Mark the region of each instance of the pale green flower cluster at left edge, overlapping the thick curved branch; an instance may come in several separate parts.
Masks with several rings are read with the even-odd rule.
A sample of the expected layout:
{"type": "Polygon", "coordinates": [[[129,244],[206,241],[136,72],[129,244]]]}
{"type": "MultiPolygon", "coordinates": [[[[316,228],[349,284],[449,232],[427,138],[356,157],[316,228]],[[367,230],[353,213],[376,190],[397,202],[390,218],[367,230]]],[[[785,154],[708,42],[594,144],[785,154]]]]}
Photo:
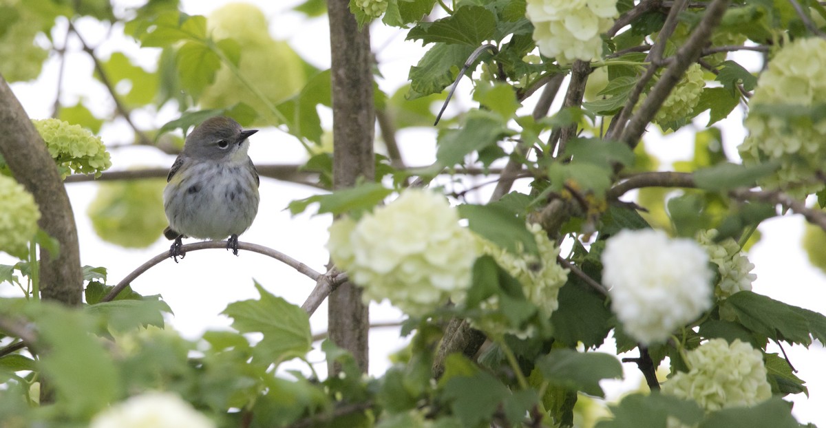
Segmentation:
{"type": "Polygon", "coordinates": [[[38,220],[40,210],[35,197],[14,178],[0,175],[0,251],[25,257],[38,220]]]}

